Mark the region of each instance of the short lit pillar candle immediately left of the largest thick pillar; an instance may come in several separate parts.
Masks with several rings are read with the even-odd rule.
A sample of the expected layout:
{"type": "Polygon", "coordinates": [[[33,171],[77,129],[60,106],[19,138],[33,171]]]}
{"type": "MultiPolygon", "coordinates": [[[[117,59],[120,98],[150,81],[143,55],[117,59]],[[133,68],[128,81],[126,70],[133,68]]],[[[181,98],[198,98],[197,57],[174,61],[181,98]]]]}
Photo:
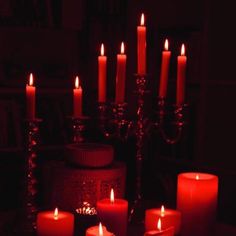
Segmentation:
{"type": "Polygon", "coordinates": [[[181,225],[181,213],[178,210],[161,208],[153,208],[145,211],[145,229],[146,231],[156,229],[156,222],[161,218],[162,227],[174,227],[175,234],[179,234],[181,225]]]}

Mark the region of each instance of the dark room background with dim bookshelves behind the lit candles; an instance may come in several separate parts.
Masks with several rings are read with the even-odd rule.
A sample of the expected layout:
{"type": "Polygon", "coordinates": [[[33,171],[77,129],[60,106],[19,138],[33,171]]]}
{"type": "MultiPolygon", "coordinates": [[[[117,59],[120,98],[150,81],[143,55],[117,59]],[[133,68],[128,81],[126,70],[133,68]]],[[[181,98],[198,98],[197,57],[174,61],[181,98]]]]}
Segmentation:
{"type": "MultiPolygon", "coordinates": [[[[135,118],[136,26],[140,13],[144,12],[150,78],[150,94],[145,103],[147,114],[152,116],[156,106],[161,51],[166,37],[172,51],[168,102],[175,102],[176,58],[184,42],[189,104],[188,126],[178,145],[166,145],[157,133],[147,139],[145,165],[149,175],[145,178],[145,196],[174,206],[177,173],[187,170],[215,173],[220,178],[218,218],[236,225],[235,13],[232,4],[211,0],[0,0],[2,211],[18,206],[15,180],[19,160],[12,153],[19,153],[24,147],[25,84],[29,72],[36,78],[37,115],[43,119],[42,147],[62,146],[70,142],[67,117],[72,112],[74,76],[79,74],[82,80],[84,113],[93,117],[100,43],[104,42],[106,47],[107,92],[109,101],[113,101],[116,54],[123,40],[128,57],[128,117],[135,118]]],[[[92,132],[88,133],[88,139],[101,141],[92,132]]],[[[112,144],[117,158],[127,161],[132,173],[132,161],[128,159],[134,154],[132,148],[119,152],[119,149],[127,150],[128,145],[112,144]]],[[[132,183],[132,177],[127,183],[132,183]]],[[[129,190],[127,195],[130,197],[129,190]]]]}

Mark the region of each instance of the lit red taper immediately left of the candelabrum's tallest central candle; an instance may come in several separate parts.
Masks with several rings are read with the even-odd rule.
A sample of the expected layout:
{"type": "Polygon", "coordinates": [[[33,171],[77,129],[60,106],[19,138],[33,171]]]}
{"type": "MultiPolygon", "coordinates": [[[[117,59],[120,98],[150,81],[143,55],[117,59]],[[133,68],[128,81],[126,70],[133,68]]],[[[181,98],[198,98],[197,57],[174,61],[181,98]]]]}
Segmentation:
{"type": "Polygon", "coordinates": [[[124,43],[121,43],[120,54],[117,55],[116,70],[116,103],[123,103],[125,100],[125,77],[126,77],[126,55],[124,43]]]}

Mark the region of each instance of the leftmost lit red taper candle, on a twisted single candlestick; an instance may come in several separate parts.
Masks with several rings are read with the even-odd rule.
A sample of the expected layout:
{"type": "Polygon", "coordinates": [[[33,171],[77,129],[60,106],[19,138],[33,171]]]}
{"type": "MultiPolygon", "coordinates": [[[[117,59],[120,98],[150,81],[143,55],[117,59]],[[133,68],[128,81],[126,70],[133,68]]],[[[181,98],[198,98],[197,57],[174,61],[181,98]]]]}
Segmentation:
{"type": "Polygon", "coordinates": [[[35,86],[33,74],[30,73],[29,83],[26,84],[26,117],[27,119],[35,118],[35,86]]]}

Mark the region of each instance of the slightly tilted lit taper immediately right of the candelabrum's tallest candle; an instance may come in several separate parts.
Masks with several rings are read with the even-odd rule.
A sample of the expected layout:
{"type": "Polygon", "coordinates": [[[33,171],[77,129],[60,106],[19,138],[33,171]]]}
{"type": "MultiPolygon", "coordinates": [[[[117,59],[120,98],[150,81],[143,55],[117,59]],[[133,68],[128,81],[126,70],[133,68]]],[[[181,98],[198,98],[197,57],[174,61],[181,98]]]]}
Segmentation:
{"type": "Polygon", "coordinates": [[[161,60],[161,75],[160,75],[160,87],[159,87],[159,97],[165,98],[167,91],[168,75],[169,75],[169,65],[171,52],[169,49],[169,42],[166,39],[164,45],[164,51],[162,52],[161,60]]]}

